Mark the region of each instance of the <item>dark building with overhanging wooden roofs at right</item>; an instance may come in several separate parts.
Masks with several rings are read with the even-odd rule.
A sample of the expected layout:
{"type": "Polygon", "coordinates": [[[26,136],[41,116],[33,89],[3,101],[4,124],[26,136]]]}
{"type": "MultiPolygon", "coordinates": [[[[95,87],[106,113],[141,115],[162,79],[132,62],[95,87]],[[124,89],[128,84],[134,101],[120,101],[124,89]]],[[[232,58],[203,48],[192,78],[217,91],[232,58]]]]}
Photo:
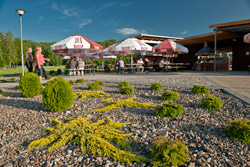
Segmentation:
{"type": "MultiPolygon", "coordinates": [[[[232,70],[248,70],[250,44],[243,42],[243,36],[250,32],[250,19],[214,24],[209,28],[213,28],[214,32],[175,41],[189,49],[188,54],[178,56],[178,62],[194,65],[197,62],[195,54],[204,47],[204,44],[207,44],[216,53],[232,53],[232,70]]],[[[216,69],[220,69],[218,63],[216,64],[216,69]]]]}

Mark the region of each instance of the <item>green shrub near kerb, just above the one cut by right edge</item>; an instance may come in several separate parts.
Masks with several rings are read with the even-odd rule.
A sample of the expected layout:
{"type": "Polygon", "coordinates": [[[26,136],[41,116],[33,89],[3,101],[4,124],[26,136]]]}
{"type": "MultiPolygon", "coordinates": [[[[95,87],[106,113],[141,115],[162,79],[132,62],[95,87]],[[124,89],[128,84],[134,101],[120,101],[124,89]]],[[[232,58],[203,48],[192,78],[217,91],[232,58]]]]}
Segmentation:
{"type": "Polygon", "coordinates": [[[208,110],[218,111],[221,109],[221,105],[223,102],[220,98],[207,96],[206,98],[201,100],[201,106],[208,110]]]}

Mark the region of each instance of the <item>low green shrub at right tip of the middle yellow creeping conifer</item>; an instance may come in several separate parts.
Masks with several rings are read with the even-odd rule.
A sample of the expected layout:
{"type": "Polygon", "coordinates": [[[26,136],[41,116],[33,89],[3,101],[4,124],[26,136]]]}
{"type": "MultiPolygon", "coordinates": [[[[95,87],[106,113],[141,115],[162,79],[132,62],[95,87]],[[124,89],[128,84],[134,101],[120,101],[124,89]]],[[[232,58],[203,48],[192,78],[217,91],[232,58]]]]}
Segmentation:
{"type": "Polygon", "coordinates": [[[162,105],[158,105],[154,109],[156,116],[175,118],[183,112],[185,108],[181,104],[173,102],[165,102],[162,105]]]}

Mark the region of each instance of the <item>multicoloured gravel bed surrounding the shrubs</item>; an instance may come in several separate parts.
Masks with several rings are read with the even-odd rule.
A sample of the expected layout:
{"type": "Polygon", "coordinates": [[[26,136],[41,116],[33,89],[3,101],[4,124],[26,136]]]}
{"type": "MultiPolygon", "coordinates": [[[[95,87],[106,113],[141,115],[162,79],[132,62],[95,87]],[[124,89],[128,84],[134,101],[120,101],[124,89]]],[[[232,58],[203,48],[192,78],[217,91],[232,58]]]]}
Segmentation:
{"type": "MultiPolygon", "coordinates": [[[[120,80],[122,78],[118,79],[120,80]]],[[[145,82],[156,82],[155,80],[148,78],[145,82]]],[[[161,80],[161,77],[158,80],[161,80]]],[[[169,78],[165,80],[167,83],[172,82],[169,78]]],[[[183,78],[181,82],[185,83],[186,80],[189,80],[189,85],[193,82],[202,82],[194,81],[190,77],[183,78]]],[[[73,86],[74,91],[86,90],[89,82],[76,84],[73,86]]],[[[207,80],[204,82],[206,83],[202,85],[213,84],[207,80]]],[[[123,127],[122,130],[134,133],[130,139],[138,142],[132,149],[136,154],[148,157],[147,146],[152,143],[153,137],[163,135],[169,139],[180,139],[188,145],[190,158],[184,166],[250,166],[250,145],[230,140],[225,132],[230,119],[250,118],[249,105],[220,90],[212,90],[210,94],[220,97],[224,104],[220,111],[208,111],[200,106],[200,100],[204,96],[192,94],[190,88],[164,87],[164,90],[154,93],[150,91],[149,86],[132,86],[135,87],[135,101],[154,104],[163,103],[160,95],[164,90],[176,91],[180,96],[176,102],[183,104],[186,110],[175,119],[156,117],[152,109],[145,108],[116,108],[105,113],[89,114],[86,111],[104,106],[101,103],[104,98],[89,98],[82,101],[75,99],[70,109],[50,113],[44,108],[41,95],[23,98],[20,91],[13,87],[1,88],[11,93],[6,97],[0,97],[0,166],[123,166],[111,158],[83,154],[79,146],[71,144],[53,153],[48,153],[46,148],[27,151],[31,141],[46,136],[43,128],[51,126],[50,119],[63,120],[78,116],[89,117],[91,121],[111,118],[117,122],[130,122],[131,125],[123,127]]],[[[116,83],[106,83],[101,90],[114,99],[131,97],[120,95],[116,83]]],[[[134,163],[132,166],[150,165],[134,163]]]]}

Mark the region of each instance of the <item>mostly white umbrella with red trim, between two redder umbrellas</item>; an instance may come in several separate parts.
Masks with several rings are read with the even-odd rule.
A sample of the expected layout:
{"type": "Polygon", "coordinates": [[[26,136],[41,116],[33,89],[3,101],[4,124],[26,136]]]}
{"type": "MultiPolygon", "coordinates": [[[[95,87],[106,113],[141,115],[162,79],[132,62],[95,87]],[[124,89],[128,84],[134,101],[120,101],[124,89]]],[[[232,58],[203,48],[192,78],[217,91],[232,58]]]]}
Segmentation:
{"type": "Polygon", "coordinates": [[[132,55],[141,52],[152,52],[152,50],[153,48],[150,45],[136,38],[128,38],[113,48],[116,55],[132,55]]]}

